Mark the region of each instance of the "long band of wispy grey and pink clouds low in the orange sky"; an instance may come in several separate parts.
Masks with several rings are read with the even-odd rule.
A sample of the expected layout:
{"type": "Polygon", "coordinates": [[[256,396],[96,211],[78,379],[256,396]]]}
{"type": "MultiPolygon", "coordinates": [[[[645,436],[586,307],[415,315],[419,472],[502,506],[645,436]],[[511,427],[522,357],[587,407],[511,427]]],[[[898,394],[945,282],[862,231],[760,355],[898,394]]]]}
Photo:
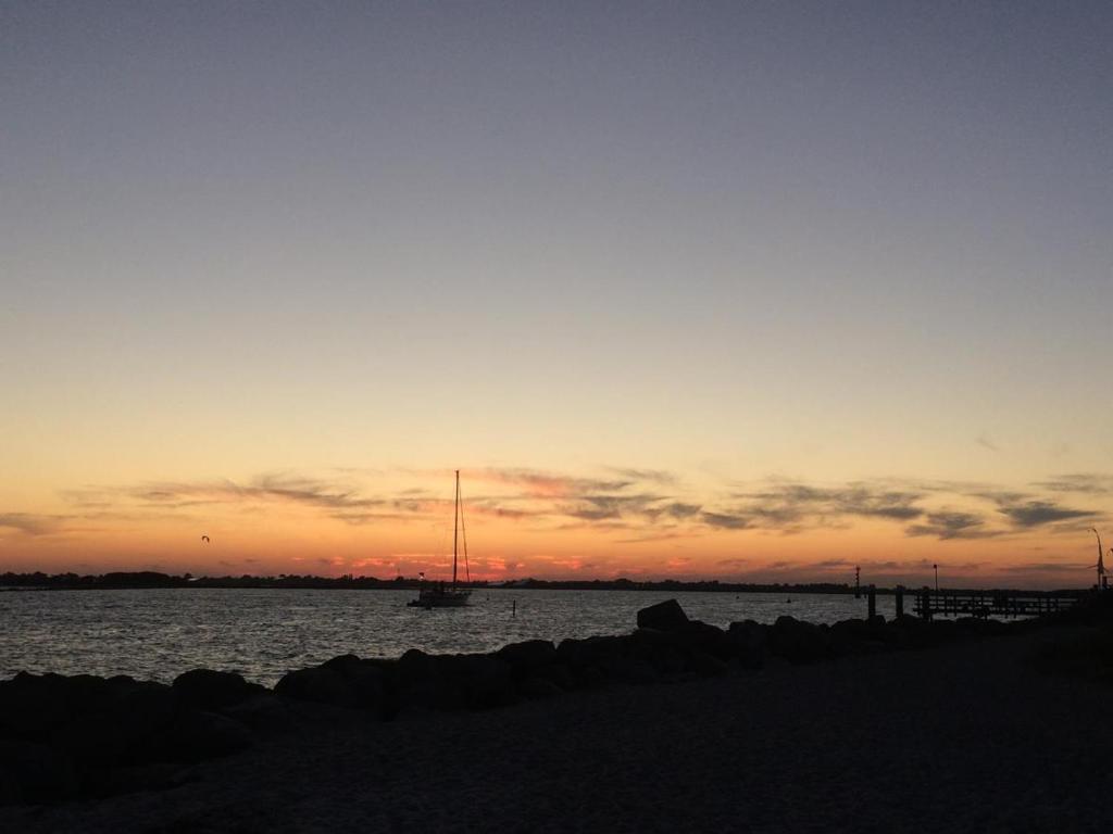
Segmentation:
{"type": "MultiPolygon", "coordinates": [[[[602,475],[533,468],[469,470],[470,517],[521,522],[533,533],[591,529],[614,534],[614,543],[639,544],[716,533],[781,535],[843,529],[857,523],[889,522],[910,537],[939,540],[1017,536],[1040,529],[1076,532],[1102,510],[1089,504],[1113,494],[1113,476],[1073,474],[1051,477],[1027,488],[967,481],[876,478],[817,484],[770,477],[735,484],[721,493],[696,490],[670,471],[603,467],[602,475]],[[485,489],[484,489],[485,487],[485,489]],[[1075,494],[1077,502],[1060,496],[1075,494]]],[[[451,495],[429,488],[444,473],[406,471],[408,483],[376,480],[378,475],[326,470],[264,473],[245,480],[148,481],[124,487],[69,490],[68,516],[0,515],[0,526],[30,535],[66,527],[75,518],[140,519],[186,515],[194,507],[228,505],[239,512],[282,508],[317,510],[349,525],[384,519],[410,520],[451,514],[451,495]],[[422,478],[417,484],[415,479],[422,478]]],[[[440,480],[437,480],[440,483],[440,480]]]]}

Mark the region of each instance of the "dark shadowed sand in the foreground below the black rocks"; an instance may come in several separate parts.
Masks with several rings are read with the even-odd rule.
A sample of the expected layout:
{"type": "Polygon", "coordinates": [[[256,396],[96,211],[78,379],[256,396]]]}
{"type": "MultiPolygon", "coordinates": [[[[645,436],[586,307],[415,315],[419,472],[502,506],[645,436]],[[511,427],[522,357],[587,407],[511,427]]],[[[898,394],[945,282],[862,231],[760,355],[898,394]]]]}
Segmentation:
{"type": "Polygon", "coordinates": [[[1105,831],[1113,687],[1034,668],[1058,632],[390,723],[307,708],[180,787],[0,830],[1105,831]]]}

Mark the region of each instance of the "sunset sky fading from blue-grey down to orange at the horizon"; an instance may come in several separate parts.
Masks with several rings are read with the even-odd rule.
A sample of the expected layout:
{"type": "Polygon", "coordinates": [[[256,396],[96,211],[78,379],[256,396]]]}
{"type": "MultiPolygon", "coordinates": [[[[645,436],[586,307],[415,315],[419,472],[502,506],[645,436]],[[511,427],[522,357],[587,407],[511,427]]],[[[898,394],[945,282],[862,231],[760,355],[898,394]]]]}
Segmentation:
{"type": "Polygon", "coordinates": [[[3,0],[0,573],[444,576],[461,469],[482,578],[1092,583],[1110,90],[1105,2],[3,0]]]}

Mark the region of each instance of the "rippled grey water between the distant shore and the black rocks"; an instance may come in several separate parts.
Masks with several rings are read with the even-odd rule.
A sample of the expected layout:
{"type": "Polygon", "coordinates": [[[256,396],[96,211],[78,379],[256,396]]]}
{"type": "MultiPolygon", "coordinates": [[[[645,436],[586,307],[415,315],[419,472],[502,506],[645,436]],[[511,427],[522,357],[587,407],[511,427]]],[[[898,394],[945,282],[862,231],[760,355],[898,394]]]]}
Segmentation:
{"type": "MultiPolygon", "coordinates": [[[[718,626],[814,623],[866,616],[866,599],[807,594],[476,590],[469,608],[407,608],[412,590],[17,590],[0,593],[0,679],[17,672],[132,675],[170,681],[205,666],[274,684],[289,669],[339,654],[397,657],[487,652],[541,637],[560,641],[633,629],[639,608],[676,597],[718,626]],[[516,615],[512,605],[516,603],[516,615]]],[[[893,616],[893,597],[878,597],[893,616]]]]}

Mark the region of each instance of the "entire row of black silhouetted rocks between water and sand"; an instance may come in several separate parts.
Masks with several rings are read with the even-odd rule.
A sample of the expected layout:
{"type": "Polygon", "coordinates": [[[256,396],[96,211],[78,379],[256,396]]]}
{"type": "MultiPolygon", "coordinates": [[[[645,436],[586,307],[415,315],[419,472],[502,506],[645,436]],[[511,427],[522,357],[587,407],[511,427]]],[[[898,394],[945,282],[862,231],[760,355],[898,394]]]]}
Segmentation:
{"type": "MultiPolygon", "coordinates": [[[[1041,674],[1100,685],[1113,681],[1113,594],[1107,592],[1066,612],[1007,625],[874,616],[827,626],[782,616],[771,625],[745,620],[719,628],[689,619],[669,599],[638,612],[637,628],[624,635],[559,645],[531,639],[481,654],[410,649],[393,659],[347,654],[290,671],[273,689],[205,668],[185,672],[170,685],[128,676],[19,673],[0,682],[0,805],[99,802],[180,788],[197,780],[197,767],[210,759],[246,755],[259,745],[308,743],[306,728],[315,722],[374,732],[366,729],[368,722],[559,704],[595,691],[750,681],[780,667],[835,668],[854,658],[899,657],[1040,632],[1066,635],[1034,656],[1041,674]]],[[[965,696],[976,699],[978,674],[965,696]]],[[[683,697],[683,687],[673,691],[683,697]]],[[[875,706],[879,715],[902,708],[890,696],[875,706]]]]}

